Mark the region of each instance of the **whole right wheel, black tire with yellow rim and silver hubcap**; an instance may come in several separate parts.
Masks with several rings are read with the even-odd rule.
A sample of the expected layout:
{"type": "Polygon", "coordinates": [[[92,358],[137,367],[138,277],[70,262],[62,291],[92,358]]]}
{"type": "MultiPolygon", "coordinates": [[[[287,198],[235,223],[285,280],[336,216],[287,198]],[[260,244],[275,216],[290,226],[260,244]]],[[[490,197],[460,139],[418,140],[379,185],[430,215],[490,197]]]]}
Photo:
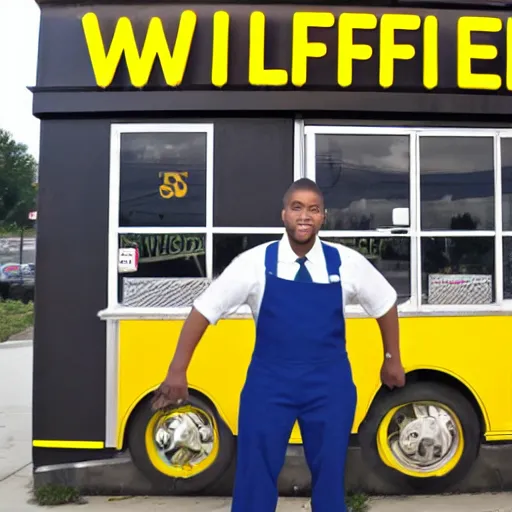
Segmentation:
{"type": "Polygon", "coordinates": [[[384,391],[359,429],[363,457],[402,491],[437,492],[461,480],[480,447],[473,406],[453,388],[413,382],[384,391]]]}

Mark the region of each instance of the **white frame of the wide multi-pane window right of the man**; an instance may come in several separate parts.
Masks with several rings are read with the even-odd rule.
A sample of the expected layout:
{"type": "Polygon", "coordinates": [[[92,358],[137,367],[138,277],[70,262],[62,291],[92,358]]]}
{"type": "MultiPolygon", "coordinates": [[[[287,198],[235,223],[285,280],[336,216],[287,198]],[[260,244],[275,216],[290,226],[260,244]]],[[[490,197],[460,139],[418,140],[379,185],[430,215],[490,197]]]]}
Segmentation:
{"type": "MultiPolygon", "coordinates": [[[[336,126],[308,125],[305,127],[306,137],[306,171],[305,175],[316,178],[315,142],[317,135],[406,135],[410,138],[410,227],[407,235],[391,233],[383,234],[376,230],[361,231],[321,231],[322,237],[363,237],[363,238],[398,238],[405,236],[411,241],[411,297],[399,305],[401,313],[418,314],[471,314],[512,311],[512,300],[503,298],[503,236],[512,236],[512,232],[503,232],[502,220],[502,187],[501,187],[501,138],[512,138],[512,130],[473,129],[473,128],[424,128],[424,127],[378,127],[378,126],[336,126]],[[421,190],[420,190],[420,137],[489,137],[493,139],[494,151],[494,230],[475,231],[422,231],[421,230],[421,190]],[[421,239],[424,237],[494,237],[494,290],[495,302],[492,304],[475,305],[437,305],[422,304],[422,273],[421,273],[421,239]]],[[[347,313],[364,315],[360,306],[348,306],[347,313]]]]}

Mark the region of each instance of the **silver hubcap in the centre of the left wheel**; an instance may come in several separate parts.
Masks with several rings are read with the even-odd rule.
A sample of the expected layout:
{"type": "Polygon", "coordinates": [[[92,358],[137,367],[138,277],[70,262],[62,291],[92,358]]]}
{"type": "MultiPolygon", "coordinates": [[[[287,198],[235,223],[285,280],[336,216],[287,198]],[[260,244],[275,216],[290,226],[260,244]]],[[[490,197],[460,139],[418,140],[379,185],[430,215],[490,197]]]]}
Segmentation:
{"type": "Polygon", "coordinates": [[[196,466],[212,453],[214,426],[198,410],[177,410],[155,424],[153,440],[160,458],[177,467],[196,466]]]}

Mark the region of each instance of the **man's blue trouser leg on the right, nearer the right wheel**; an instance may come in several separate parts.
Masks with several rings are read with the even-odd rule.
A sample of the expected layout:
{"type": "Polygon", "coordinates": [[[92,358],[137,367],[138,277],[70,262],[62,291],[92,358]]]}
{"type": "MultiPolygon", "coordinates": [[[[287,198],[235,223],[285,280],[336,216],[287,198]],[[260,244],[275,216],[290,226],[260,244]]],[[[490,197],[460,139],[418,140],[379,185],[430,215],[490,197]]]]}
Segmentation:
{"type": "Polygon", "coordinates": [[[354,421],[356,390],[334,365],[308,379],[299,412],[306,461],[312,477],[312,512],[346,512],[345,462],[354,421]]]}

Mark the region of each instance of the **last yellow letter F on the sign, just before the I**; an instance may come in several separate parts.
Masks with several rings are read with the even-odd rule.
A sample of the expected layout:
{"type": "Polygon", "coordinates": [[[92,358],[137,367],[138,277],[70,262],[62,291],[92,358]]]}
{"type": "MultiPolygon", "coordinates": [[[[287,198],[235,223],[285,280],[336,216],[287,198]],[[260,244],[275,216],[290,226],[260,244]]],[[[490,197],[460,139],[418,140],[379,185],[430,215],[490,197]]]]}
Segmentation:
{"type": "Polygon", "coordinates": [[[410,60],[416,54],[410,44],[396,44],[395,30],[418,30],[421,18],[416,14],[383,14],[380,20],[380,69],[381,87],[391,87],[394,82],[395,60],[410,60]]]}

